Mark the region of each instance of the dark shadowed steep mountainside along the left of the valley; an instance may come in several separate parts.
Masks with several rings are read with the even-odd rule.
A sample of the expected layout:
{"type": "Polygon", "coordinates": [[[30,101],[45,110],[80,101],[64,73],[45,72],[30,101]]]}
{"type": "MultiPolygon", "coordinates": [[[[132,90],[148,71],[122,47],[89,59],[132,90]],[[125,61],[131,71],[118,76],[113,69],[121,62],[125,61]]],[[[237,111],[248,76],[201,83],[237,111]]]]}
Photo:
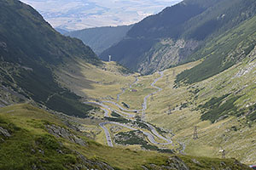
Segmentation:
{"type": "Polygon", "coordinates": [[[75,57],[99,65],[96,54],[80,40],[61,36],[37,11],[18,0],[0,2],[0,22],[2,91],[15,91],[68,115],[86,116],[91,107],[61,88],[53,70],[75,57]]]}

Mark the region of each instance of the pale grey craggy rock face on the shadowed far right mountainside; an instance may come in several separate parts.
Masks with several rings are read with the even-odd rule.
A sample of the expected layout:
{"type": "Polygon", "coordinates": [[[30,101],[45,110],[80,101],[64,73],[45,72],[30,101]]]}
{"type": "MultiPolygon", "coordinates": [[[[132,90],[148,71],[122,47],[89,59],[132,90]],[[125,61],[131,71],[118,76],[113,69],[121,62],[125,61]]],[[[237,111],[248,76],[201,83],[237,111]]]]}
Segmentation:
{"type": "Polygon", "coordinates": [[[177,65],[189,54],[192,54],[198,45],[199,42],[195,40],[179,39],[174,42],[171,38],[162,39],[143,55],[143,60],[138,65],[138,71],[148,74],[153,71],[164,70],[170,65],[177,65]]]}

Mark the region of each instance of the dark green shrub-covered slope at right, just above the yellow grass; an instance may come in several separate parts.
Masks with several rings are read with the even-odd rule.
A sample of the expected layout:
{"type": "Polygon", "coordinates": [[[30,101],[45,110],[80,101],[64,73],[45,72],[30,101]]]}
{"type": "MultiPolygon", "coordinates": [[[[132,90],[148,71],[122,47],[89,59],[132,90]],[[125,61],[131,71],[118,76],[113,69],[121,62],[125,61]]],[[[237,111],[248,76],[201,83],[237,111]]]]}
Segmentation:
{"type": "Polygon", "coordinates": [[[201,65],[177,76],[176,82],[194,83],[212,77],[241,61],[256,44],[255,20],[253,17],[231,31],[213,38],[204,48],[191,56],[192,59],[206,58],[201,65]]]}

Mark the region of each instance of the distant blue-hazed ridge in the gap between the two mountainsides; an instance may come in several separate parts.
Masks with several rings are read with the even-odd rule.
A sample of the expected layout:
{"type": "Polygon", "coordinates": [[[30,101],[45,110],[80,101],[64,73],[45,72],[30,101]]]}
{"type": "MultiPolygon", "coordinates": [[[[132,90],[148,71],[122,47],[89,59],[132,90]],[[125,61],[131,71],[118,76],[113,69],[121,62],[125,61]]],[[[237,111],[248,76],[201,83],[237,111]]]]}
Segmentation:
{"type": "Polygon", "coordinates": [[[125,37],[131,26],[106,26],[88,28],[79,31],[70,31],[64,33],[66,36],[77,37],[89,45],[96,54],[101,54],[105,49],[119,42],[125,37]]]}

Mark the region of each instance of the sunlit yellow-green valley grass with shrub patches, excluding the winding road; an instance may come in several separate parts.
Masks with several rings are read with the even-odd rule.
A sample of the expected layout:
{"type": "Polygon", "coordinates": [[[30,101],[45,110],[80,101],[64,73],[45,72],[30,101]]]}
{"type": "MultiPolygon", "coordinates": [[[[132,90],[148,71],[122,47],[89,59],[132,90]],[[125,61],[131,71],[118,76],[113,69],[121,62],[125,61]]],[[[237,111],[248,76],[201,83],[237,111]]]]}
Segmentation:
{"type": "MultiPolygon", "coordinates": [[[[224,149],[227,157],[236,157],[243,163],[253,164],[256,157],[254,154],[256,99],[253,96],[256,80],[249,77],[253,77],[255,72],[254,58],[255,49],[241,64],[205,81],[180,87],[175,87],[176,76],[186,69],[200,65],[201,61],[166,70],[164,77],[156,83],[156,86],[163,90],[148,98],[148,108],[145,114],[145,121],[158,127],[160,134],[172,139],[173,144],[165,145],[164,148],[175,150],[177,153],[210,157],[220,157],[219,150],[224,149]],[[199,139],[196,140],[193,139],[195,126],[198,127],[199,135],[199,139]]],[[[114,68],[113,63],[106,64],[108,68],[114,68]]],[[[119,105],[125,104],[131,110],[142,109],[144,97],[156,91],[150,84],[159,77],[158,73],[137,77],[138,81],[130,87],[131,83],[136,80],[134,77],[136,75],[125,77],[124,81],[124,77],[116,70],[92,69],[90,65],[83,65],[81,62],[77,65],[70,65],[66,71],[62,69],[57,75],[62,77],[59,81],[73,89],[76,94],[88,94],[91,101],[110,100],[119,105]],[[80,67],[80,73],[79,70],[74,70],[78,67],[80,67]],[[99,78],[91,70],[105,76],[99,78]],[[83,76],[80,75],[81,73],[83,76]],[[86,87],[83,86],[86,80],[99,82],[103,80],[103,82],[92,82],[91,87],[86,87]],[[122,93],[122,88],[126,88],[124,93],[122,93]],[[119,100],[116,97],[118,94],[121,94],[119,100]]],[[[119,111],[115,105],[104,104],[119,111]]],[[[131,114],[135,113],[131,112],[131,114]]],[[[90,137],[101,144],[107,144],[107,141],[104,132],[98,127],[100,122],[120,122],[131,125],[129,120],[120,117],[115,112],[109,112],[108,115],[111,118],[108,119],[103,115],[102,111],[91,113],[91,120],[81,122],[82,127],[79,127],[81,131],[90,133],[90,137]]],[[[141,114],[137,113],[135,116],[135,120],[139,120],[141,114]]],[[[106,127],[115,141],[115,147],[141,150],[140,145],[148,142],[147,138],[131,129],[110,124],[106,127]]],[[[143,124],[138,127],[146,131],[148,128],[143,124]]],[[[161,139],[155,139],[163,142],[161,139]]],[[[161,147],[157,144],[150,145],[151,148],[147,147],[148,150],[155,150],[155,146],[161,147]]]]}

